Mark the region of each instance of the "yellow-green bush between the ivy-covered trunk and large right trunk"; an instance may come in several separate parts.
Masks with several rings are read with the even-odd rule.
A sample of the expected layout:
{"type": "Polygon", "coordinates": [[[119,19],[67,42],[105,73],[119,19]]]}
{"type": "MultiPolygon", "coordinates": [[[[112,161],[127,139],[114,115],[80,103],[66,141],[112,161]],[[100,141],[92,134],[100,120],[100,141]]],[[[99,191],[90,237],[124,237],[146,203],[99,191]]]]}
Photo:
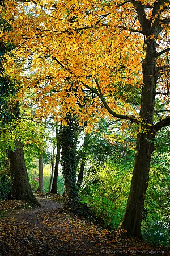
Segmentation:
{"type": "Polygon", "coordinates": [[[86,203],[105,226],[118,228],[123,217],[130,188],[131,172],[125,166],[107,162],[103,170],[92,174],[80,192],[86,203]]]}

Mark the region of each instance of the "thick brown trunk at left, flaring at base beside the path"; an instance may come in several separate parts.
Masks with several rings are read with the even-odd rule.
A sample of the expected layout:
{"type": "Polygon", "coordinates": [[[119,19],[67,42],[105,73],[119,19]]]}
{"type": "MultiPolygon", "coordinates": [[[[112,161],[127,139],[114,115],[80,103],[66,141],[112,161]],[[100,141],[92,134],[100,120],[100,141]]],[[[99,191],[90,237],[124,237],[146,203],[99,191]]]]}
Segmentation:
{"type": "Polygon", "coordinates": [[[36,200],[29,184],[27,168],[24,159],[23,145],[16,141],[14,151],[9,152],[11,172],[11,198],[30,201],[41,206],[36,200]]]}

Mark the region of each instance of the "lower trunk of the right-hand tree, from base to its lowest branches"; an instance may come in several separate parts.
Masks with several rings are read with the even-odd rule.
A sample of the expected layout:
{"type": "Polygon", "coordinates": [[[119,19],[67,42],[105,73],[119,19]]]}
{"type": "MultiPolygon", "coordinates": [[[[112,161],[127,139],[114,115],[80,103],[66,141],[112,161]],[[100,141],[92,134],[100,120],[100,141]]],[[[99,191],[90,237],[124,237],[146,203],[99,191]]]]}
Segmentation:
{"type": "MultiPolygon", "coordinates": [[[[154,150],[154,143],[148,142],[148,139],[144,133],[138,135],[131,188],[125,215],[120,225],[120,229],[127,230],[129,236],[138,238],[141,238],[142,211],[148,186],[150,159],[154,150]]],[[[153,136],[150,136],[150,139],[153,139],[153,136]]]]}

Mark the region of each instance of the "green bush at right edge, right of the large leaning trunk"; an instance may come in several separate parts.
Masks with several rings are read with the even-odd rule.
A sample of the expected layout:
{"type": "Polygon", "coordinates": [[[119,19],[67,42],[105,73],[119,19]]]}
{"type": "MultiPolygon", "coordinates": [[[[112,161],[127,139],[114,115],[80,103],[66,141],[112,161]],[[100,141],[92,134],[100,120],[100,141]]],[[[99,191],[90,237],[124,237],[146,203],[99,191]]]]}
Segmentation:
{"type": "Polygon", "coordinates": [[[143,238],[152,244],[169,244],[169,181],[169,163],[166,164],[164,159],[163,164],[159,163],[150,170],[145,200],[147,214],[145,220],[142,221],[143,238]]]}

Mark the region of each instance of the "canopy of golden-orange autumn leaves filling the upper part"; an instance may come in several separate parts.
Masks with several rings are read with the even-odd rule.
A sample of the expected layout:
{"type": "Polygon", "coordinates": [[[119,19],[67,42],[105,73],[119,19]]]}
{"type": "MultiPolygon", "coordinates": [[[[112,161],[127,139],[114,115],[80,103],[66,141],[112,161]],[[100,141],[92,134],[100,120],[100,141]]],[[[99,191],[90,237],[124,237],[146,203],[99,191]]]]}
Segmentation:
{"type": "MultiPolygon", "coordinates": [[[[151,26],[168,5],[164,2],[154,16],[147,11],[151,26]]],[[[18,46],[15,54],[23,60],[23,68],[29,66],[22,73],[12,68],[8,72],[23,86],[19,98],[31,94],[25,105],[34,105],[37,117],[52,115],[61,122],[67,113],[74,113],[80,124],[94,123],[97,117],[111,116],[102,99],[113,112],[138,116],[139,109],[119,94],[121,86],[142,88],[144,38],[135,32],[142,28],[130,2],[47,0],[16,5],[10,0],[7,7],[6,18],[14,20],[14,30],[5,36],[18,46]]],[[[146,38],[156,40],[155,33],[146,38]]],[[[164,39],[158,40],[161,49],[164,39]]]]}

